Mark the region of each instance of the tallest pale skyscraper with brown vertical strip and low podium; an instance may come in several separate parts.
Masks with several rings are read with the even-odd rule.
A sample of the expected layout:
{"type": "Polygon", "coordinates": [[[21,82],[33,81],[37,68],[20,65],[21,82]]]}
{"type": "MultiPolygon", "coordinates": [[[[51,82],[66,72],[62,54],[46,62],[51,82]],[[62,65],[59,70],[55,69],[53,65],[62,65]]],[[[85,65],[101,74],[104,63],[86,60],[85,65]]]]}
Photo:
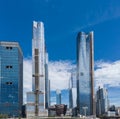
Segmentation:
{"type": "Polygon", "coordinates": [[[49,95],[48,55],[45,49],[44,24],[33,22],[32,92],[27,93],[27,117],[47,116],[49,95]],[[47,83],[47,84],[45,84],[47,83]],[[47,97],[47,99],[46,99],[47,97]],[[47,102],[46,102],[47,101],[47,102]]]}

